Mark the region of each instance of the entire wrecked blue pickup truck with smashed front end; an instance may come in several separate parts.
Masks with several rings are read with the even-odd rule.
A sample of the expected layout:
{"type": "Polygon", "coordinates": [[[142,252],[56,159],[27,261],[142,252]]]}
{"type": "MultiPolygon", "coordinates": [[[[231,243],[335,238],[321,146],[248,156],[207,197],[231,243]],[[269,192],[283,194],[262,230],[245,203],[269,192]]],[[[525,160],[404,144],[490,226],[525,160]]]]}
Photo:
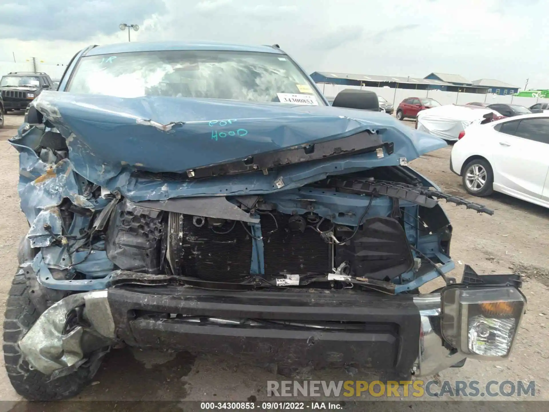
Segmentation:
{"type": "Polygon", "coordinates": [[[74,396],[122,342],[290,375],[508,357],[520,277],[448,276],[439,201],[492,211],[407,166],[444,141],[341,93],[330,106],[278,46],[77,53],[10,140],[30,226],[4,321],[15,390],[74,396]]]}

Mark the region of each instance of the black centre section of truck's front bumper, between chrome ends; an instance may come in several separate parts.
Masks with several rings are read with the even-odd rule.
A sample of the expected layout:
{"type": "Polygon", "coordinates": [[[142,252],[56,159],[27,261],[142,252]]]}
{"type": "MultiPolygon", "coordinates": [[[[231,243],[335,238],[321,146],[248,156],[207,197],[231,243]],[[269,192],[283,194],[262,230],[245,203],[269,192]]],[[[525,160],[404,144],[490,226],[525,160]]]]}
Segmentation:
{"type": "Polygon", "coordinates": [[[124,286],[109,289],[108,300],[117,335],[131,346],[228,354],[290,370],[355,364],[399,378],[410,376],[418,356],[420,317],[412,296],[124,286]],[[262,325],[190,323],[182,315],[262,325]],[[349,327],[318,328],[341,322],[349,327]]]}

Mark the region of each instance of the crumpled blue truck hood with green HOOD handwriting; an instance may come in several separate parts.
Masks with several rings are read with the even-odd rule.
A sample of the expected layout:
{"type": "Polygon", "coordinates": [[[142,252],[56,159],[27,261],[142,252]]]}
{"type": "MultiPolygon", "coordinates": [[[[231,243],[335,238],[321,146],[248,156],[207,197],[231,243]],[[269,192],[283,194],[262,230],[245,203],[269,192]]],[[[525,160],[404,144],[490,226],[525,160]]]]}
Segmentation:
{"type": "MultiPolygon", "coordinates": [[[[401,158],[409,162],[446,146],[440,138],[413,130],[385,113],[329,106],[54,91],[42,92],[32,105],[65,138],[77,174],[133,201],[272,192],[278,179],[284,189],[299,187],[328,175],[398,165],[401,158]],[[392,143],[393,153],[287,164],[267,175],[251,172],[187,180],[189,169],[365,131],[392,143]],[[164,180],[136,174],[139,171],[182,174],[182,179],[164,180]]],[[[20,129],[20,137],[24,133],[20,129]]],[[[12,143],[18,144],[18,139],[12,143]]]]}

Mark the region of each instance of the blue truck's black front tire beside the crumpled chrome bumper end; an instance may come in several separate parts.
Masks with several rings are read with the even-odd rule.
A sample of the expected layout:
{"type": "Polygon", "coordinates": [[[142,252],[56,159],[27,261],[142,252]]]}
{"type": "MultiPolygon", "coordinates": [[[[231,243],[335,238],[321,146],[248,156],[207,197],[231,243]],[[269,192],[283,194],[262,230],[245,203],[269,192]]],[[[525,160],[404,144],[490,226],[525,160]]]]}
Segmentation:
{"type": "Polygon", "coordinates": [[[15,392],[29,400],[55,400],[75,396],[96,374],[100,360],[83,364],[68,375],[50,381],[50,377],[29,368],[19,349],[19,339],[36,322],[40,313],[29,299],[25,274],[20,270],[9,289],[4,319],[4,363],[15,392]]]}

